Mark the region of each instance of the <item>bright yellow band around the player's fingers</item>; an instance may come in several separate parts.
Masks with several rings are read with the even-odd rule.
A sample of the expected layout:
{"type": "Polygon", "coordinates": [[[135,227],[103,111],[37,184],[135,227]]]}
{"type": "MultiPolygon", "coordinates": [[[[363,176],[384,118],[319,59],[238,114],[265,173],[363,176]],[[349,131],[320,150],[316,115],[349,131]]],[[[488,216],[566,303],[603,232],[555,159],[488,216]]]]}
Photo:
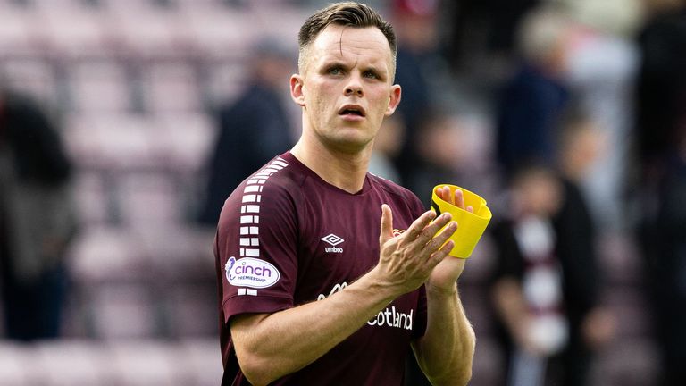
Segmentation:
{"type": "Polygon", "coordinates": [[[458,258],[469,258],[476,244],[481,239],[483,232],[489,225],[492,214],[490,209],[486,206],[486,200],[479,195],[456,185],[441,184],[436,185],[431,192],[431,210],[436,214],[448,212],[452,214],[453,221],[457,222],[457,231],[450,237],[455,243],[455,247],[450,251],[449,255],[458,258]],[[450,196],[455,195],[456,189],[461,189],[464,197],[464,207],[472,206],[473,213],[454,206],[439,197],[436,191],[443,187],[450,188],[450,196]]]}

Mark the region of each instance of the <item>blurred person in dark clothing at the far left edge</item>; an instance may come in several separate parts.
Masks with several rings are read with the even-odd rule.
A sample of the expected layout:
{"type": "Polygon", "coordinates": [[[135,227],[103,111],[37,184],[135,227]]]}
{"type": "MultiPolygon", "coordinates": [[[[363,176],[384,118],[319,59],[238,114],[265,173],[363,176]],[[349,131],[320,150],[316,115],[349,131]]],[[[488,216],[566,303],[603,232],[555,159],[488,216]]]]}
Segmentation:
{"type": "Polygon", "coordinates": [[[0,290],[13,340],[60,334],[64,255],[76,232],[71,162],[29,99],[0,92],[0,290]]]}

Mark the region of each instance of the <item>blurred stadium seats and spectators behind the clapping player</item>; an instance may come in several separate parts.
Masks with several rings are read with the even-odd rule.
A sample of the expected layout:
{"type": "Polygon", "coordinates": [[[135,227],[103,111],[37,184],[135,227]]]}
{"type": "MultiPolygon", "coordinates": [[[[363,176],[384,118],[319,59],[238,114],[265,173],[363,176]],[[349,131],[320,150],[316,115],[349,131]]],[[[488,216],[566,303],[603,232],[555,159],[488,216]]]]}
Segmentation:
{"type": "MultiPolygon", "coordinates": [[[[686,384],[686,2],[368,3],[403,88],[372,172],[494,214],[471,384],[686,384]]],[[[326,4],[0,0],[0,384],[220,383],[214,225],[297,139],[326,4]]]]}

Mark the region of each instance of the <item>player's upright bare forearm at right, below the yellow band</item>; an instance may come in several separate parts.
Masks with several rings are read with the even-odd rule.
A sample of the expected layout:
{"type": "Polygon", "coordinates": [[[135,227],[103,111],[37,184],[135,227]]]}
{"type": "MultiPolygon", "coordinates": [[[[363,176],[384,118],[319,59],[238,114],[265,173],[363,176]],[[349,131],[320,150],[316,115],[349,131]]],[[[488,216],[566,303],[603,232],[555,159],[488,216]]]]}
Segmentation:
{"type": "Polygon", "coordinates": [[[472,377],[476,339],[457,293],[427,285],[427,329],[414,344],[422,371],[434,385],[464,385],[472,377]]]}

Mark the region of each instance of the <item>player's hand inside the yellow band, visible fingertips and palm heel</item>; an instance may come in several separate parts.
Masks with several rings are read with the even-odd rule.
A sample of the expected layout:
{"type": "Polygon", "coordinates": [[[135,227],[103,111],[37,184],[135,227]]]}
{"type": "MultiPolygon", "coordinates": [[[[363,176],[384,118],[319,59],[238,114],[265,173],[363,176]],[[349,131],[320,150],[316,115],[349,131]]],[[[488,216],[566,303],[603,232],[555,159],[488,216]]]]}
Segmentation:
{"type": "MultiPolygon", "coordinates": [[[[455,194],[450,194],[450,188],[445,186],[439,188],[436,194],[440,199],[460,207],[467,212],[473,213],[472,206],[464,206],[464,194],[461,189],[456,189],[455,194]]],[[[460,224],[457,224],[459,227],[460,224]]],[[[464,271],[466,259],[453,256],[446,256],[431,272],[429,280],[426,281],[427,292],[438,291],[439,293],[452,294],[456,291],[456,281],[464,271]]]]}

